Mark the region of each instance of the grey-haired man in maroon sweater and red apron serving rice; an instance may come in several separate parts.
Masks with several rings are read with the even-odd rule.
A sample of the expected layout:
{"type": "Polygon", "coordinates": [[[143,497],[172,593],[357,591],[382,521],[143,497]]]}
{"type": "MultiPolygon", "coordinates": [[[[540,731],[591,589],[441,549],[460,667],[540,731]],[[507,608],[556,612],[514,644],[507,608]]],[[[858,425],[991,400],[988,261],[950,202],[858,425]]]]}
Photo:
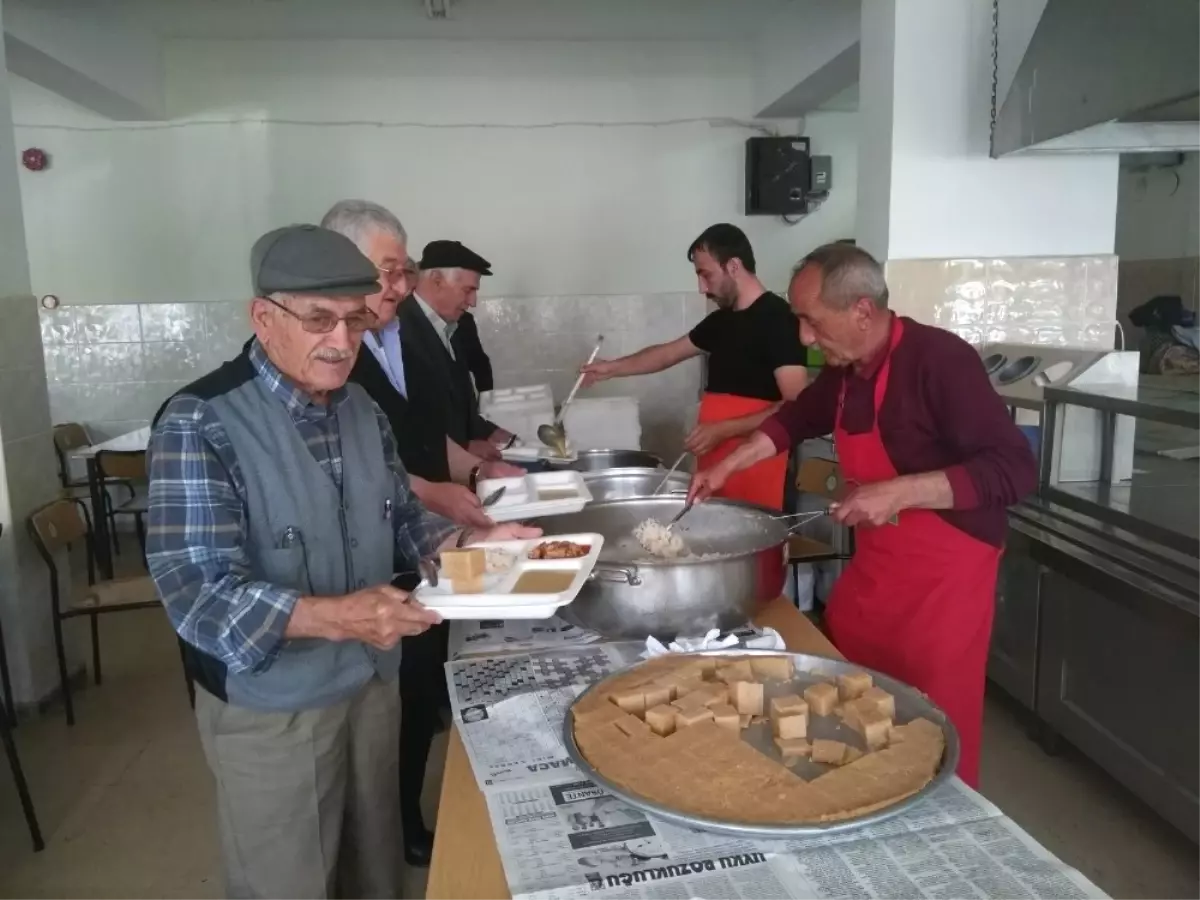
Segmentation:
{"type": "Polygon", "coordinates": [[[833,517],[857,530],[854,558],[829,598],[829,634],[847,659],[946,710],[962,744],[959,775],[977,786],[1004,510],[1033,491],[1033,455],[974,349],[890,313],[883,270],[865,251],[817,248],[797,268],[788,300],[804,342],[818,344],[828,366],[698,473],[692,496],[781,446],[833,433],[852,486],[833,517]]]}

